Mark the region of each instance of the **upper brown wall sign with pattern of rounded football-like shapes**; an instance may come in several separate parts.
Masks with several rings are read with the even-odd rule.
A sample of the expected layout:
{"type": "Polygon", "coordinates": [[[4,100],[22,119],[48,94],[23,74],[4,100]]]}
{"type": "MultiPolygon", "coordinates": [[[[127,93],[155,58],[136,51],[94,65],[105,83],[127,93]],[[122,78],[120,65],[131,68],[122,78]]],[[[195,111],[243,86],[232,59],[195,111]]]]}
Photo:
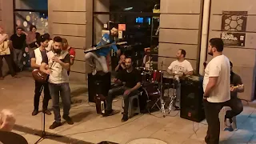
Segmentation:
{"type": "Polygon", "coordinates": [[[246,31],[247,11],[223,11],[222,30],[246,31]]]}

